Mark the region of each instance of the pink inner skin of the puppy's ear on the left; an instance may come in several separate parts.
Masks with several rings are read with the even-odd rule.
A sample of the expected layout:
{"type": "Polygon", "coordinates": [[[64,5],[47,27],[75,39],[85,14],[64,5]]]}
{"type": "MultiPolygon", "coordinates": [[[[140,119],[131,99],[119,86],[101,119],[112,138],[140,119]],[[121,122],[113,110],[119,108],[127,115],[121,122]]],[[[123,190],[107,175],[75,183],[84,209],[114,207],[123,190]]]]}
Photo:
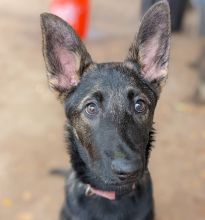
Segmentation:
{"type": "Polygon", "coordinates": [[[77,56],[61,48],[56,49],[56,54],[62,67],[62,72],[55,77],[56,86],[62,89],[76,86],[79,82],[77,56]]]}

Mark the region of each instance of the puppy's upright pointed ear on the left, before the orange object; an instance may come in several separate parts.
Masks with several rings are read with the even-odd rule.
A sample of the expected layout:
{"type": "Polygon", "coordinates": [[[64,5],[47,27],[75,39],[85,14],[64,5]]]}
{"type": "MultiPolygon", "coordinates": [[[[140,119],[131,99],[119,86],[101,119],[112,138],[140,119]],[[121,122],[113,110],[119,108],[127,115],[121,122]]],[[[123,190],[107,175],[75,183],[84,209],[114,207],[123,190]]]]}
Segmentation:
{"type": "Polygon", "coordinates": [[[92,60],[72,27],[61,18],[41,14],[41,29],[49,85],[62,94],[78,84],[92,60]]]}

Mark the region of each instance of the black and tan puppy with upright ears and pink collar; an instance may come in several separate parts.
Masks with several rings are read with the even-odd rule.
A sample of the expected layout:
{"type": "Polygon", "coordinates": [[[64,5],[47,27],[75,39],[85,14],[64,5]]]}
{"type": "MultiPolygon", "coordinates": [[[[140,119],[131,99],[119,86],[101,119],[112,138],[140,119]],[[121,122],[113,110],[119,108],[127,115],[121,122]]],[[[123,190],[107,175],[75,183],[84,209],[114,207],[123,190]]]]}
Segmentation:
{"type": "Polygon", "coordinates": [[[92,61],[73,29],[41,15],[50,86],[64,103],[72,169],[61,220],[151,220],[147,164],[153,115],[167,78],[170,15],[166,1],[142,19],[121,63],[92,61]]]}

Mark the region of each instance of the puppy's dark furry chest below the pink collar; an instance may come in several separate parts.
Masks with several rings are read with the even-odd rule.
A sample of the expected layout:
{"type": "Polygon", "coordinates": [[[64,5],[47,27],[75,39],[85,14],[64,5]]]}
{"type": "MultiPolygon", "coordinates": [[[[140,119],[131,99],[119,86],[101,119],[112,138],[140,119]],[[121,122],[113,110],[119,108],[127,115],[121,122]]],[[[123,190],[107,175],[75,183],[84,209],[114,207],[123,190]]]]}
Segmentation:
{"type": "Polygon", "coordinates": [[[151,220],[152,193],[147,184],[120,200],[85,195],[85,187],[72,181],[66,186],[66,199],[61,220],[151,220]],[[148,218],[147,218],[148,217],[148,218]]]}

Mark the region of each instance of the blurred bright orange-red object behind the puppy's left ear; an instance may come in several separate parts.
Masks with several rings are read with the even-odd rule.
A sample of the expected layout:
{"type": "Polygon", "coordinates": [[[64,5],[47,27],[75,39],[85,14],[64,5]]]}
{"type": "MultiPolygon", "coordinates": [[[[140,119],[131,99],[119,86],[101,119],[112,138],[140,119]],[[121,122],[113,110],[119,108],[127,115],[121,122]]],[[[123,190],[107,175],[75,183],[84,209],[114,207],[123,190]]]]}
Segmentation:
{"type": "Polygon", "coordinates": [[[52,0],[50,11],[67,21],[81,39],[86,37],[89,0],[52,0]]]}

